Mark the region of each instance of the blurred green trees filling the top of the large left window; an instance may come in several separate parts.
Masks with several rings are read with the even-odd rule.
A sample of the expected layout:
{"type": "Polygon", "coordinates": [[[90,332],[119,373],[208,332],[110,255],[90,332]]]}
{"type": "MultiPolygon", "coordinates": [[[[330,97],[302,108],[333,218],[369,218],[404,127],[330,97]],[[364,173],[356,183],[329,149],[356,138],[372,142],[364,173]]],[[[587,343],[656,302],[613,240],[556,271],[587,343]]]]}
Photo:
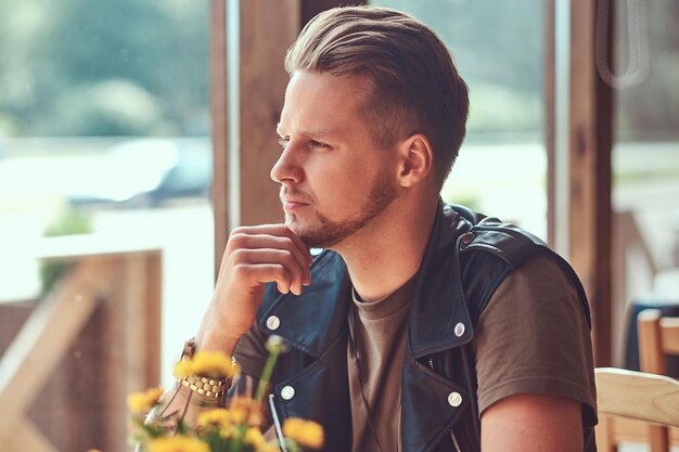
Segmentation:
{"type": "Polygon", "coordinates": [[[0,0],[0,133],[208,134],[207,14],[207,0],[0,0]]]}

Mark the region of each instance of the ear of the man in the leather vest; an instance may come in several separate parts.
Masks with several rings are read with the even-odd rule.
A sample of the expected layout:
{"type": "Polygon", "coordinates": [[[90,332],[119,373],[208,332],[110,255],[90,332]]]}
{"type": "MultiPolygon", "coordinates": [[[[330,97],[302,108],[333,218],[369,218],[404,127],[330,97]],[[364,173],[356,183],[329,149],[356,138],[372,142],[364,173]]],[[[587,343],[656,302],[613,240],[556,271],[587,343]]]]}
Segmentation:
{"type": "Polygon", "coordinates": [[[434,154],[430,141],[415,133],[398,145],[398,176],[401,186],[413,186],[432,173],[434,154]]]}

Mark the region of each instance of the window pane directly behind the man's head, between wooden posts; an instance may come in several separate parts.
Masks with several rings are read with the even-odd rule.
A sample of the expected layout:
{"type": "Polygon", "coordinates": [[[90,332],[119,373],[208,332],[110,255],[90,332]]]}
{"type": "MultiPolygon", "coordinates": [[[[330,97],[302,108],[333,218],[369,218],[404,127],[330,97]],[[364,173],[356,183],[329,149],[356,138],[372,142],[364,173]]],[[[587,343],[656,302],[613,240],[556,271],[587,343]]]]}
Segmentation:
{"type": "Polygon", "coordinates": [[[470,87],[467,138],[444,186],[444,198],[546,238],[543,2],[370,3],[411,13],[434,29],[470,87]]]}

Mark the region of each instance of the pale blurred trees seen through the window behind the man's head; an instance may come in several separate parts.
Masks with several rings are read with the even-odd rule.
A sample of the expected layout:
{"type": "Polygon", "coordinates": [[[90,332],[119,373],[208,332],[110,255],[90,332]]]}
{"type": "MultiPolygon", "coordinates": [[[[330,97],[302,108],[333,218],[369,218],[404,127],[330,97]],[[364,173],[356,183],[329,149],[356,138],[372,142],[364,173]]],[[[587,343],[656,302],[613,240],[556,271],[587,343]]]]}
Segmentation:
{"type": "Polygon", "coordinates": [[[534,0],[373,0],[411,13],[450,49],[470,86],[470,132],[543,129],[543,7],[534,0]]]}

